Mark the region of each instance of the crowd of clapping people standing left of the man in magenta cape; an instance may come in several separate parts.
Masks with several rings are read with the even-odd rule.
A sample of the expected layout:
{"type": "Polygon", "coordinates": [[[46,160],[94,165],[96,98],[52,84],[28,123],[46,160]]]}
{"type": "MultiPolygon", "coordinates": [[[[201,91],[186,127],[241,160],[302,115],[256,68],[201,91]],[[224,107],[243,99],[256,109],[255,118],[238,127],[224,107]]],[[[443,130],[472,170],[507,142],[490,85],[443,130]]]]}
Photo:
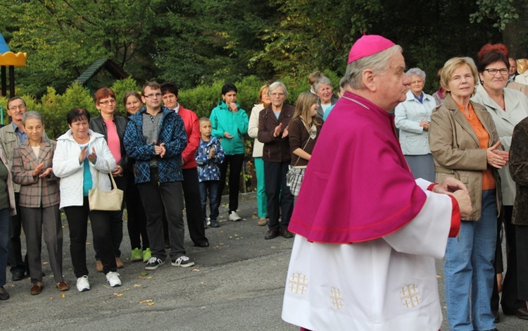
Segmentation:
{"type": "MultiPolygon", "coordinates": [[[[269,218],[265,239],[293,237],[287,230],[294,203],[286,185],[290,149],[296,155],[295,168],[303,171],[322,125],[322,120],[314,120],[320,106],[318,96],[306,94],[308,98],[300,96],[295,108],[284,104],[288,94],[281,82],[267,84],[260,89],[260,108],[256,106],[251,119],[251,134],[263,141],[262,162],[257,168],[258,225],[268,224],[269,218]],[[292,148],[290,120],[294,120],[292,148]]],[[[7,264],[13,281],[29,277],[30,294],[42,292],[42,235],[55,285],[59,291],[69,289],[63,274],[61,210],[68,222],[70,256],[80,292],[90,289],[88,224],[96,270],[106,275],[111,287],[121,285],[118,269],[124,267],[121,243],[125,208],[130,261],[143,261],[146,270],[155,270],[169,256],[172,266],[193,266],[184,247],[184,208],[192,242],[208,247],[205,230],[220,227],[220,198],[227,180],[228,219],[241,220],[237,213],[239,177],[249,118],[237,103],[235,85],[225,84],[221,96],[210,118],[198,118],[178,102],[177,85],[149,82],[141,94],[125,93],[122,103],[127,118],[123,118],[115,114],[115,93],[103,87],[94,93],[99,116],[91,118],[86,109],[73,108],[66,118],[70,130],[56,141],[47,137],[42,115],[27,111],[20,97],[9,99],[12,122],[0,130],[0,172],[4,169],[0,192],[5,192],[3,199],[0,195],[4,207],[0,215],[4,216],[0,218],[0,299],[9,297],[4,288],[7,264]],[[91,208],[89,191],[94,187],[110,191],[112,183],[125,195],[119,210],[91,208]],[[27,243],[25,258],[22,230],[27,243]]],[[[296,185],[298,192],[301,180],[296,185]]]]}

